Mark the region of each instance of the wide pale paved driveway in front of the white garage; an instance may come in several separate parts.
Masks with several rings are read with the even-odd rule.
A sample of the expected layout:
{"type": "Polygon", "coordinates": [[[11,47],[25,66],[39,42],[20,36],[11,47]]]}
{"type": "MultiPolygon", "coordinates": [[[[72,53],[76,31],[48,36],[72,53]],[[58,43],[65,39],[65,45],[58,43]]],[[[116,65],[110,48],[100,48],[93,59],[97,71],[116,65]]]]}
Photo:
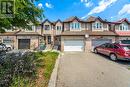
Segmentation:
{"type": "Polygon", "coordinates": [[[130,87],[130,71],[93,53],[65,53],[57,87],[130,87]]]}

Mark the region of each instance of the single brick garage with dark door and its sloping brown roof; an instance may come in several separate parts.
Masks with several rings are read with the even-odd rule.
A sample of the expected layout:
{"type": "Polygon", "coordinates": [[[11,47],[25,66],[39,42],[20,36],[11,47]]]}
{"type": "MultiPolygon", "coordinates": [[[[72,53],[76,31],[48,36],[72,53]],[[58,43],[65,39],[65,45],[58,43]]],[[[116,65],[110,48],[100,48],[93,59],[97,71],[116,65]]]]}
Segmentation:
{"type": "Polygon", "coordinates": [[[17,47],[16,49],[36,49],[41,40],[41,35],[37,32],[23,32],[16,34],[17,47]]]}

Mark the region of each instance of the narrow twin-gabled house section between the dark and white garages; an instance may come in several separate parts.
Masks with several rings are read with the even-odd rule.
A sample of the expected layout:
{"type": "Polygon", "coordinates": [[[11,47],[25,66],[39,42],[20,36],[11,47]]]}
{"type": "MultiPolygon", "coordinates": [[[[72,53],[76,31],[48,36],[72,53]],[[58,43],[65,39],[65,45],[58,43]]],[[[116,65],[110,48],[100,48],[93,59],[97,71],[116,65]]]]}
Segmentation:
{"type": "Polygon", "coordinates": [[[46,43],[46,45],[60,44],[60,35],[63,31],[63,23],[61,22],[61,20],[50,22],[48,19],[46,19],[42,23],[42,28],[42,35],[44,36],[44,42],[46,43]]]}

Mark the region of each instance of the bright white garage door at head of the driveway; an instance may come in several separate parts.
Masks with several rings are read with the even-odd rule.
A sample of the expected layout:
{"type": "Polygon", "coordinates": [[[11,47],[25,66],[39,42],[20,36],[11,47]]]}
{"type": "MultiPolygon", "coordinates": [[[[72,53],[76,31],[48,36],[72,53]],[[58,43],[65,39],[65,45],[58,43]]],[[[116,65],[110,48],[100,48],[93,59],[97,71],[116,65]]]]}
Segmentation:
{"type": "Polygon", "coordinates": [[[66,40],[66,41],[64,41],[64,51],[84,51],[83,40],[66,40]]]}

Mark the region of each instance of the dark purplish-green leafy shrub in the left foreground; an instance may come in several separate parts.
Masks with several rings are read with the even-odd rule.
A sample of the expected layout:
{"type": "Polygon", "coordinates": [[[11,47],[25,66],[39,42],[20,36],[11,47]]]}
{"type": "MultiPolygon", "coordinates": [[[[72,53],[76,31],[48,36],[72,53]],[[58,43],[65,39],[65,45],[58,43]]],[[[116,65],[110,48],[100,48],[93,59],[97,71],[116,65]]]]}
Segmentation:
{"type": "Polygon", "coordinates": [[[43,59],[39,59],[41,53],[25,53],[24,55],[8,55],[0,67],[0,87],[9,87],[14,77],[36,78],[36,69],[43,66],[43,59]],[[42,64],[40,65],[40,62],[42,64]]]}

